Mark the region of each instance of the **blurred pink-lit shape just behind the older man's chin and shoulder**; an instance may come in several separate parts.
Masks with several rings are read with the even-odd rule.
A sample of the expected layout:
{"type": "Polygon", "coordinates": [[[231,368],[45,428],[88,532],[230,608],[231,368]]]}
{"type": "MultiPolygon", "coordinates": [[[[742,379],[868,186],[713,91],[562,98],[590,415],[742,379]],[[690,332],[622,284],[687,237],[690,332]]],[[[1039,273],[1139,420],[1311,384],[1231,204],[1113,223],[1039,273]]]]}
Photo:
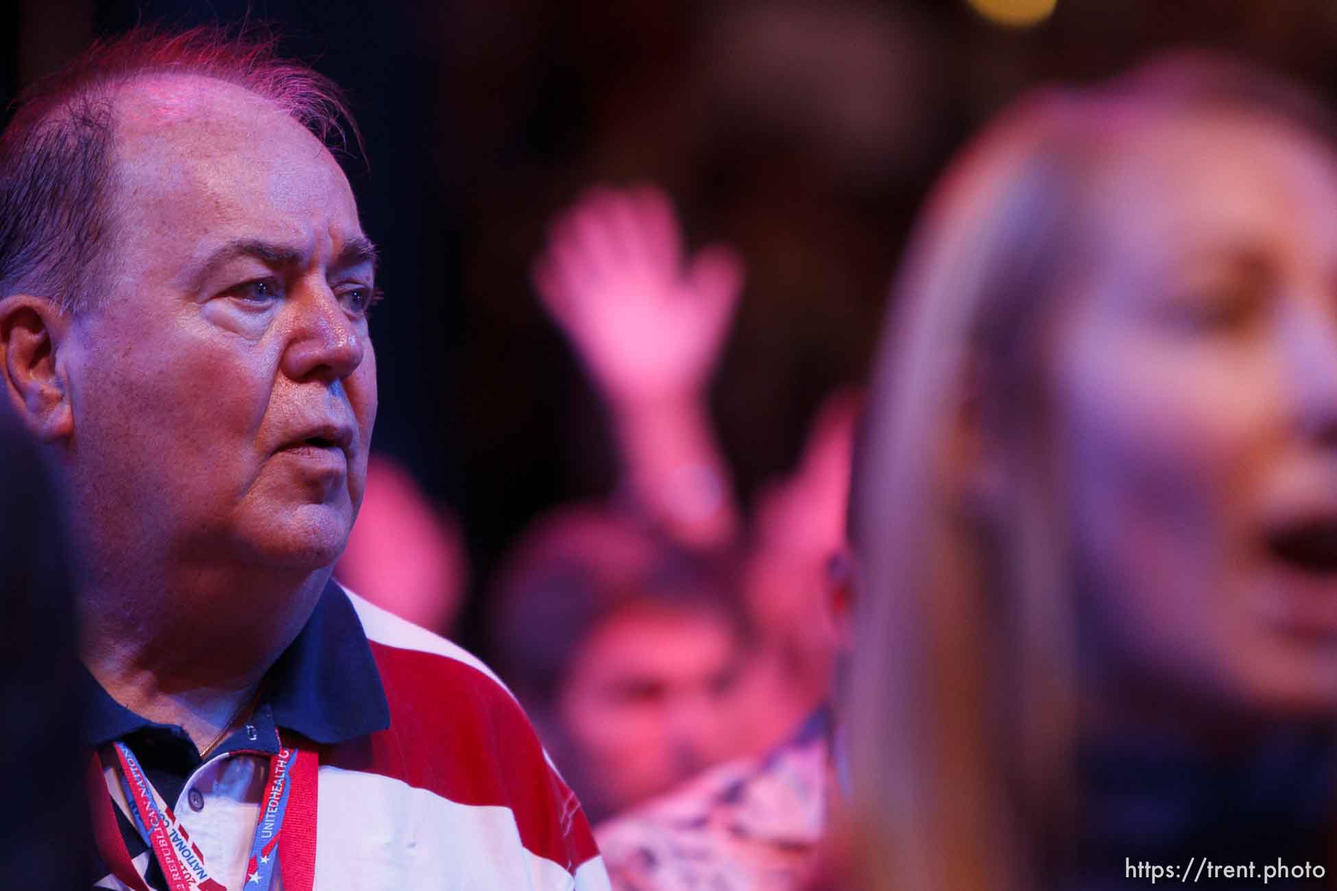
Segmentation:
{"type": "Polygon", "coordinates": [[[366,492],[334,576],[414,625],[449,636],[469,581],[459,521],[392,458],[372,454],[366,492]]]}

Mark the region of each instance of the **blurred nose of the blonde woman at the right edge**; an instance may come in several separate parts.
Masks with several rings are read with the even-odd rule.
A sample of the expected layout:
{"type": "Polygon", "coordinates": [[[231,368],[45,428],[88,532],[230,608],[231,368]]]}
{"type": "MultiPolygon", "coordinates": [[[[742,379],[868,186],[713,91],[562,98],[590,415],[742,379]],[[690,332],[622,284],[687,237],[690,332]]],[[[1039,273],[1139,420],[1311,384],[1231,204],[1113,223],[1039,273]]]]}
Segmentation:
{"type": "Polygon", "coordinates": [[[1282,341],[1294,417],[1306,438],[1337,450],[1337,313],[1332,302],[1292,313],[1282,341]]]}

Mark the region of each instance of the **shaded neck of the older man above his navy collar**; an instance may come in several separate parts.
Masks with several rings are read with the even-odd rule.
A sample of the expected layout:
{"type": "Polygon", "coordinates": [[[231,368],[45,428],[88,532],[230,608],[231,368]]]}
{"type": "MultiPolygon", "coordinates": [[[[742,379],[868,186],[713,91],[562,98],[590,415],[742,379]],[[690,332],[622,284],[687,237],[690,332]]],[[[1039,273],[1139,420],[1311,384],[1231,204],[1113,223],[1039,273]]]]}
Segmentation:
{"type": "Polygon", "coordinates": [[[306,624],[328,568],[99,573],[80,585],[83,661],[126,708],[203,751],[251,701],[306,624]]]}

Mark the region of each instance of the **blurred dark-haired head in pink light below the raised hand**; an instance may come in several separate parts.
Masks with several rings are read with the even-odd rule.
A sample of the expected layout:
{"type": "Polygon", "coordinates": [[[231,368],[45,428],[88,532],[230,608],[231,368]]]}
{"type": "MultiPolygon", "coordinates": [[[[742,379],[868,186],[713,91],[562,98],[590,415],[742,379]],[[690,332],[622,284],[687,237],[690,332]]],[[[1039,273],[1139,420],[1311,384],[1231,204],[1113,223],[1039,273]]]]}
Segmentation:
{"type": "Polygon", "coordinates": [[[738,752],[747,635],[733,574],[603,506],[539,521],[503,566],[499,672],[592,822],[738,752]]]}

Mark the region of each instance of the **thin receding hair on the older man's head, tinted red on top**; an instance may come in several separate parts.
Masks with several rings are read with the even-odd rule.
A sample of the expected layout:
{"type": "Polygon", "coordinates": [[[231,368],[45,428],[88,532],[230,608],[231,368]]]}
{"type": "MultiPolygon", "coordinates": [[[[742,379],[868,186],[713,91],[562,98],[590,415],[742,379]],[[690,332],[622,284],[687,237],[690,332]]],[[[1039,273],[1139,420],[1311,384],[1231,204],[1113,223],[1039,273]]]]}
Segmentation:
{"type": "Polygon", "coordinates": [[[67,313],[96,302],[118,224],[111,187],[118,119],[123,100],[146,95],[126,87],[185,75],[226,81],[271,103],[321,144],[342,136],[340,120],[356,136],[338,88],[279,59],[273,40],[213,28],[136,29],[99,44],[25,91],[0,135],[0,299],[40,294],[67,313]]]}

